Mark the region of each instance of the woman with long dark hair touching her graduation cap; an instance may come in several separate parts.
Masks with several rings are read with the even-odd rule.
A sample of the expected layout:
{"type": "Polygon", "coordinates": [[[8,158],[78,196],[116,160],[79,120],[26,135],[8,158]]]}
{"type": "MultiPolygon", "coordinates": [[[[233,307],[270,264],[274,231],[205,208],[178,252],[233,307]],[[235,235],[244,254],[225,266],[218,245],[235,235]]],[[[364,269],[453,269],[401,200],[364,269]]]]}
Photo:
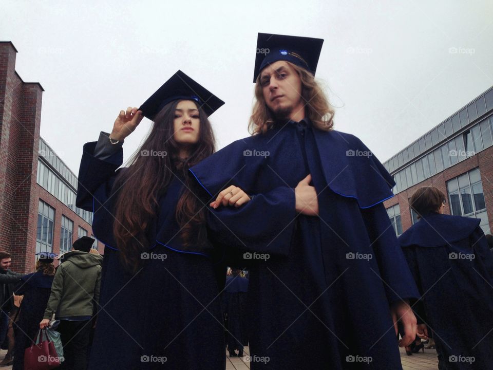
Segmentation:
{"type": "MultiPolygon", "coordinates": [[[[225,269],[215,265],[206,205],[187,176],[214,152],[208,117],[223,104],[178,71],[139,109],[122,110],[109,135],[84,145],[77,206],[94,212],[93,232],[105,245],[90,369],[224,368],[216,280],[225,269]],[[117,170],[142,116],[153,126],[117,170]]],[[[243,193],[237,205],[248,200],[243,193]]]]}

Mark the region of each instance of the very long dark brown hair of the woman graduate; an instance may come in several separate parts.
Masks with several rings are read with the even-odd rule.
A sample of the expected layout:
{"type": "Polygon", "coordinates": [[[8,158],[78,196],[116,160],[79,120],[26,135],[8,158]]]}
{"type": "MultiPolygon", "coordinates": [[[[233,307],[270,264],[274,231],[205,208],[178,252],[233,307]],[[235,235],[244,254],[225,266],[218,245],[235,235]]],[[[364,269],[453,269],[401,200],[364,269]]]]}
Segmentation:
{"type": "Polygon", "coordinates": [[[158,216],[158,201],[175,176],[173,171],[182,171],[185,179],[175,215],[182,243],[185,248],[194,244],[199,248],[206,245],[205,210],[189,190],[195,186],[189,180],[187,170],[214,153],[215,139],[207,116],[198,108],[199,140],[190,148],[189,157],[181,162],[178,159],[179,143],[173,137],[178,103],[170,102],[158,113],[148,137],[113,185],[113,192],[118,192],[113,235],[121,252],[121,262],[132,273],[141,266],[141,253],[148,251],[155,242],[148,240],[147,231],[158,216]]]}

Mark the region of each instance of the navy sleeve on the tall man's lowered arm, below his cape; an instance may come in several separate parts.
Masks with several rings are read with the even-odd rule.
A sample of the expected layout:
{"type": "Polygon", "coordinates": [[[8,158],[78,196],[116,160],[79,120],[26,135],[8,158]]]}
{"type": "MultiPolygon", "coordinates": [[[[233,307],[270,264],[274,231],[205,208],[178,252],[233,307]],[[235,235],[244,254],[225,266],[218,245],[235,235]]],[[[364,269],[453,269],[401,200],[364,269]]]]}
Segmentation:
{"type": "Polygon", "coordinates": [[[382,203],[361,210],[389,304],[420,297],[382,203]]]}

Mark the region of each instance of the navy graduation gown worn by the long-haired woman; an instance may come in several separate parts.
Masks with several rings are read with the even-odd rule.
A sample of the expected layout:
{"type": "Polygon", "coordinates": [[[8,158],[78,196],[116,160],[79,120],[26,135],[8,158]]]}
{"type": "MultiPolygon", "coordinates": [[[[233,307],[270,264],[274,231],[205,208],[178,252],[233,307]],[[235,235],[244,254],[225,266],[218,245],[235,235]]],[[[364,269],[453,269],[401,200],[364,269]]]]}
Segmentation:
{"type": "Polygon", "coordinates": [[[159,199],[158,217],[147,235],[154,241],[150,258],[132,276],[119,261],[112,235],[112,187],[118,171],[125,170],[116,172],[123,151],[100,160],[93,156],[95,146],[84,145],[77,194],[77,206],[94,212],[92,230],[105,245],[89,368],[223,369],[216,266],[208,253],[183,249],[175,219],[183,179],[177,175],[159,199]]]}

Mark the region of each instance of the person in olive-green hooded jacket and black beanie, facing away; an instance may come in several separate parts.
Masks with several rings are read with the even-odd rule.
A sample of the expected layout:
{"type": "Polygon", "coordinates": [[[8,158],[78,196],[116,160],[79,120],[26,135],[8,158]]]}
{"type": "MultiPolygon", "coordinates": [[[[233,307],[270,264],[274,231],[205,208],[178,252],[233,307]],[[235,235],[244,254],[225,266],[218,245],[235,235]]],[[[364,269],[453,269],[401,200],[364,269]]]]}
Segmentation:
{"type": "Polygon", "coordinates": [[[53,317],[60,320],[63,369],[87,368],[90,323],[99,301],[103,260],[100,255],[89,253],[93,243],[93,238],[83,236],[72,244],[70,252],[60,257],[43,320],[39,323],[43,329],[53,317]]]}

